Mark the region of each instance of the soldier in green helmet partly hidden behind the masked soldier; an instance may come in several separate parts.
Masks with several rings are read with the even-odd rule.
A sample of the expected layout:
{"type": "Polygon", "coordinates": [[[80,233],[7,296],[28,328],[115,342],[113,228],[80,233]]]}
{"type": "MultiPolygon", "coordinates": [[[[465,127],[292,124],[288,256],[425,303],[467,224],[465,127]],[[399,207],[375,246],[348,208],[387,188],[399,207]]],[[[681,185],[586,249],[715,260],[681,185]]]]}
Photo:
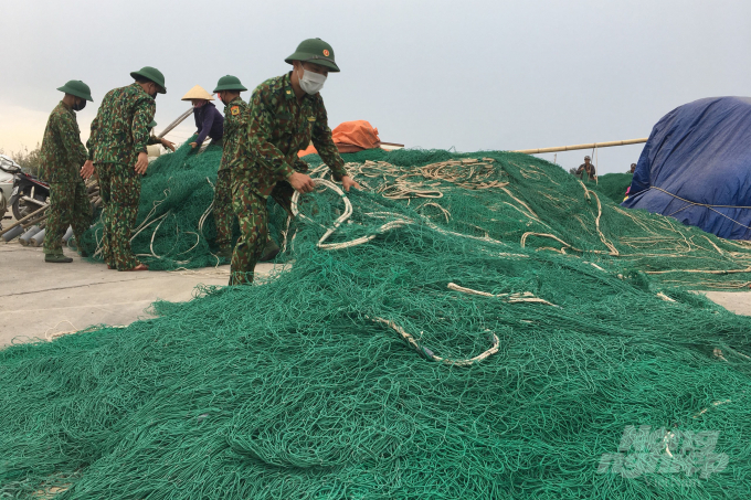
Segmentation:
{"type": "Polygon", "coordinates": [[[232,257],[232,177],[230,166],[237,155],[240,136],[247,130],[247,104],[240,97],[247,88],[236,76],[222,76],[214,93],[224,103],[224,151],[214,187],[214,221],[219,257],[232,257]]]}

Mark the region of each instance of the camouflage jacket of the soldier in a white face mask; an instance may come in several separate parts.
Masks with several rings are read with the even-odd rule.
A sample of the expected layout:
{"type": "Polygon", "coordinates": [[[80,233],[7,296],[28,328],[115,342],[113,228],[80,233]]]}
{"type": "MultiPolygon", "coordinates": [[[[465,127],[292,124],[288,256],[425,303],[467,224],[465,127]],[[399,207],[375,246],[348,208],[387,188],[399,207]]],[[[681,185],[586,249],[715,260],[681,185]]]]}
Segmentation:
{"type": "Polygon", "coordinates": [[[306,95],[298,104],[290,75],[292,72],[267,79],[253,91],[247,132],[241,135],[233,161],[233,177],[243,175],[264,196],[277,181],[305,166],[297,152],[306,149],[310,140],[336,179],[347,174],[331,139],[324,99],[320,94],[306,95]]]}

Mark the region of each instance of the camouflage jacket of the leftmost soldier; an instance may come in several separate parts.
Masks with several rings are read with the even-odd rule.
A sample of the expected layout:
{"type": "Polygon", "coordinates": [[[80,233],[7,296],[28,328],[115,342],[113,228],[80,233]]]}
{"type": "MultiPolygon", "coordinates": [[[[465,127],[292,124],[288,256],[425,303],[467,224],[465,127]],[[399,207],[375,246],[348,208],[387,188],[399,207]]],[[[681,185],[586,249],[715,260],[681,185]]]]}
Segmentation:
{"type": "Polygon", "coordinates": [[[75,113],[62,100],[50,114],[40,150],[40,178],[47,182],[75,182],[86,162],[86,148],[75,113]]]}

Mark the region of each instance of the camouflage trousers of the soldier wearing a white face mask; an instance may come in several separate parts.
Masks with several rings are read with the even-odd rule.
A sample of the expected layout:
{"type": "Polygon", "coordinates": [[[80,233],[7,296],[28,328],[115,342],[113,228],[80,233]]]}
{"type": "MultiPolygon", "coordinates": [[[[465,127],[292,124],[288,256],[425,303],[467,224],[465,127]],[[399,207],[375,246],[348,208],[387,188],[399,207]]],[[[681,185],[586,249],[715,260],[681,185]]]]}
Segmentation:
{"type": "MultiPolygon", "coordinates": [[[[288,182],[279,181],[271,195],[292,214],[294,192],[288,182]]],[[[252,182],[240,177],[232,184],[232,208],[240,222],[240,238],[232,253],[230,285],[248,285],[253,283],[253,270],[268,241],[266,199],[253,189],[252,182]]]]}

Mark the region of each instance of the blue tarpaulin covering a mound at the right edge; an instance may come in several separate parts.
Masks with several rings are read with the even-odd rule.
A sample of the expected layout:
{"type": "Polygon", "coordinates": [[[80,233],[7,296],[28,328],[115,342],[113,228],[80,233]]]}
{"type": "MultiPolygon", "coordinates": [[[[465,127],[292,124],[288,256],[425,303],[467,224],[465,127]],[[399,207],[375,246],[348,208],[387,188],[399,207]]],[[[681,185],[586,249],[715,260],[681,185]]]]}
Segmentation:
{"type": "Polygon", "coordinates": [[[665,115],[622,205],[751,240],[751,97],[699,99],[665,115]]]}

